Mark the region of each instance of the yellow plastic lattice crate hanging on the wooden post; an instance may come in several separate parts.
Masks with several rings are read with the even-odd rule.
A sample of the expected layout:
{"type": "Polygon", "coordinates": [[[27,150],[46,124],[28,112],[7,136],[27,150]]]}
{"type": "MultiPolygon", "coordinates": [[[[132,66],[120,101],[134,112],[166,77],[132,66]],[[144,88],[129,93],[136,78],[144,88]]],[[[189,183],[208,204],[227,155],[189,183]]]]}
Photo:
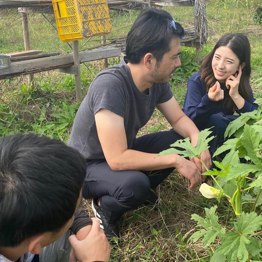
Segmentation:
{"type": "Polygon", "coordinates": [[[52,0],[58,35],[69,42],[111,32],[106,0],[52,0]]]}

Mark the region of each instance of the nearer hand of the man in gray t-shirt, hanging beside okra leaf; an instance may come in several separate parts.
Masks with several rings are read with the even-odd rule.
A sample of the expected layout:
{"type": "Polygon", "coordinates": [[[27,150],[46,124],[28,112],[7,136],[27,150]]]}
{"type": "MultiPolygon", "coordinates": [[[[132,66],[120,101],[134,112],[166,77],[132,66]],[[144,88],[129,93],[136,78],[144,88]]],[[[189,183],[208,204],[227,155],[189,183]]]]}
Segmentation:
{"type": "Polygon", "coordinates": [[[191,182],[189,189],[196,189],[198,184],[201,184],[200,172],[192,161],[181,158],[177,161],[175,168],[183,177],[186,177],[191,182]]]}

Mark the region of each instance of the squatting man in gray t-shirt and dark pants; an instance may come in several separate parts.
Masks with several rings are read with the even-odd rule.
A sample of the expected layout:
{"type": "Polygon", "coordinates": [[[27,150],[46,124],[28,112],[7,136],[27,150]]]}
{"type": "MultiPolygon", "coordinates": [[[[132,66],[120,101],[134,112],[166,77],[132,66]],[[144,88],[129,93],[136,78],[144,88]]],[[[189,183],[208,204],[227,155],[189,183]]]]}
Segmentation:
{"type": "MultiPolygon", "coordinates": [[[[128,33],[126,57],[100,72],[81,103],[68,145],[87,161],[83,196],[108,237],[120,236],[118,219],[142,204],[154,204],[155,189],[174,169],[196,188],[205,177],[199,159],[157,157],[178,139],[196,145],[199,130],[182,112],[169,85],[181,65],[184,29],[165,10],[148,8],[128,33]],[[136,138],[157,107],[174,130],[136,138]]],[[[208,150],[201,154],[211,166],[208,150]]]]}

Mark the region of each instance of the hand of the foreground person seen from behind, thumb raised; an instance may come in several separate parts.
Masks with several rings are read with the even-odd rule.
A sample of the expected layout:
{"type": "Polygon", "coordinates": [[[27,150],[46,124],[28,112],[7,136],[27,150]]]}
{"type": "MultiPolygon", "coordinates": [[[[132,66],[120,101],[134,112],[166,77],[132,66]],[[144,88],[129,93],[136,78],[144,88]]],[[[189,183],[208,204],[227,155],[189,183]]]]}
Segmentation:
{"type": "Polygon", "coordinates": [[[111,248],[105,233],[99,230],[100,221],[91,218],[92,228],[88,236],[79,241],[75,235],[69,237],[70,244],[74,249],[77,259],[81,262],[105,261],[110,258],[111,248]]]}

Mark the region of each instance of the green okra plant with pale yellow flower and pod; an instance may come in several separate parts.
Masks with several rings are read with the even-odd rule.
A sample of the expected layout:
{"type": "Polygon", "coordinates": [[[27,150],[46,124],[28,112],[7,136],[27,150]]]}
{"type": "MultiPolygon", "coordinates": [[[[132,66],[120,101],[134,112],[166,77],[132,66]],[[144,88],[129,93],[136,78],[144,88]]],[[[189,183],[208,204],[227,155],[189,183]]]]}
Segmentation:
{"type": "Polygon", "coordinates": [[[203,247],[209,246],[212,251],[210,262],[261,261],[259,234],[262,216],[255,211],[262,205],[262,99],[257,99],[255,103],[259,105],[257,110],[241,114],[228,125],[225,138],[230,139],[216,150],[214,156],[226,155],[222,161],[214,161],[216,169],[208,170],[200,159],[201,152],[209,148],[208,142],[214,138],[210,129],[200,132],[196,146],[185,138],[159,154],[198,157],[206,168],[204,175],[211,176],[214,184],[214,187],[201,184],[201,194],[206,198],[216,197],[218,202],[224,199],[232,208],[233,227],[219,223],[216,205],[205,208],[206,218],[196,214],[191,217],[197,221],[196,227],[200,230],[193,233],[190,239],[196,242],[203,237],[203,247]],[[215,241],[217,239],[220,241],[215,241]]]}

